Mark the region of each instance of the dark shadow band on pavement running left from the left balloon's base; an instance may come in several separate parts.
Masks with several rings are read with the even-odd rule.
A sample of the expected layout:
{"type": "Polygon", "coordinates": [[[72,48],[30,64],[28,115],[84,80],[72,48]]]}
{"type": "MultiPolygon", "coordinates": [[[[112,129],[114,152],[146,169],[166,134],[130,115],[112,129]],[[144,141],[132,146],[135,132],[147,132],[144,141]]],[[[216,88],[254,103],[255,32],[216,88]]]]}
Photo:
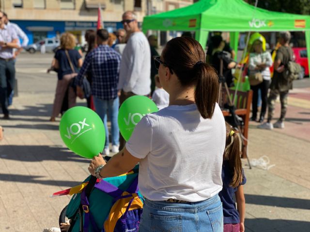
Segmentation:
{"type": "Polygon", "coordinates": [[[67,148],[47,145],[1,145],[0,158],[28,162],[43,160],[90,162],[70,152],[67,148]]]}

